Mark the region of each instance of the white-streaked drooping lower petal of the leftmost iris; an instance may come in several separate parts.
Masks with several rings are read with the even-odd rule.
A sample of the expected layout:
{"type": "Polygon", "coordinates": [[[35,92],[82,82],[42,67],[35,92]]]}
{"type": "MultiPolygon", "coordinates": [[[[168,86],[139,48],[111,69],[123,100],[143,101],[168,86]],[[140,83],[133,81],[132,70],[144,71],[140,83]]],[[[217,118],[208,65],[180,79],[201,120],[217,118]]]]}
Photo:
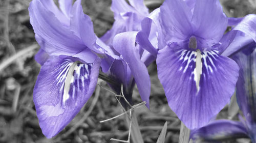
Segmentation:
{"type": "Polygon", "coordinates": [[[70,56],[51,56],[41,67],[34,103],[42,133],[51,138],[65,128],[91,97],[100,60],[83,64],[70,56]]]}

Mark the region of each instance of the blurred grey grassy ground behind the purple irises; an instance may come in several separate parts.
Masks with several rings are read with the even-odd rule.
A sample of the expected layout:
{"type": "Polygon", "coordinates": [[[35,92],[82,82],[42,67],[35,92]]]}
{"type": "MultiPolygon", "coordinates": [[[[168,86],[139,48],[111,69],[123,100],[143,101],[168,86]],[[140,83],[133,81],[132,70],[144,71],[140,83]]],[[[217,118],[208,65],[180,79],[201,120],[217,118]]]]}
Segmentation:
{"type": "MultiPolygon", "coordinates": [[[[47,139],[38,125],[33,103],[33,87],[40,65],[34,60],[39,49],[29,21],[28,7],[31,0],[0,0],[0,142],[115,142],[110,138],[127,139],[129,128],[123,117],[109,122],[122,113],[115,96],[102,88],[97,90],[75,119],[56,137],[47,139]],[[99,97],[99,98],[97,98],[99,97]]],[[[162,1],[145,0],[154,10],[162,1]]],[[[221,0],[229,17],[242,17],[256,12],[255,0],[221,0]]],[[[82,0],[84,12],[94,23],[94,32],[101,37],[114,22],[110,10],[111,0],[82,0]]],[[[210,27],[209,27],[210,28],[210,27]]],[[[136,109],[140,131],[145,143],[156,142],[160,131],[168,122],[165,142],[178,142],[180,121],[170,110],[163,89],[157,78],[156,64],[148,70],[151,75],[151,110],[136,109]]],[[[101,85],[107,87],[105,82],[101,85]]],[[[141,99],[135,88],[135,103],[141,99]]],[[[217,117],[230,118],[228,106],[217,117]]],[[[236,120],[236,117],[234,117],[236,120]]],[[[224,142],[250,142],[249,139],[229,139],[224,142]]]]}

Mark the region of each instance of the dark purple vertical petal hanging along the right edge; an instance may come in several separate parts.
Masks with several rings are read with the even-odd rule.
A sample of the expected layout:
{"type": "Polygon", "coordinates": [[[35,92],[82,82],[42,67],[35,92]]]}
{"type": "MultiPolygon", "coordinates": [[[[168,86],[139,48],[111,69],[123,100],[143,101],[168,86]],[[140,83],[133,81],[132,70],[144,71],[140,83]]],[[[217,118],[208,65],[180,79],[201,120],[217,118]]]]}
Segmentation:
{"type": "MultiPolygon", "coordinates": [[[[247,47],[254,49],[254,46],[247,47]]],[[[245,49],[246,50],[246,49],[245,49]]],[[[237,82],[237,101],[246,122],[250,125],[256,123],[256,52],[244,53],[243,51],[232,56],[232,59],[237,62],[240,67],[239,77],[237,82]]]]}

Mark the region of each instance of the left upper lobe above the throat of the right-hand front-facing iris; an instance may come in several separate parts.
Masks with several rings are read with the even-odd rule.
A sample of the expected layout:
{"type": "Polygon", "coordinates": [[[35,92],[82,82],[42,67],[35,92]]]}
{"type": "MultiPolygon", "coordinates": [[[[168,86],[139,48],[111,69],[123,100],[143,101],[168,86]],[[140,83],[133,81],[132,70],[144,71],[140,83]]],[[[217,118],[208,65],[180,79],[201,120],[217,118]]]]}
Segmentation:
{"type": "Polygon", "coordinates": [[[159,20],[167,43],[188,39],[193,32],[192,13],[184,1],[166,0],[160,7],[159,20]]]}

